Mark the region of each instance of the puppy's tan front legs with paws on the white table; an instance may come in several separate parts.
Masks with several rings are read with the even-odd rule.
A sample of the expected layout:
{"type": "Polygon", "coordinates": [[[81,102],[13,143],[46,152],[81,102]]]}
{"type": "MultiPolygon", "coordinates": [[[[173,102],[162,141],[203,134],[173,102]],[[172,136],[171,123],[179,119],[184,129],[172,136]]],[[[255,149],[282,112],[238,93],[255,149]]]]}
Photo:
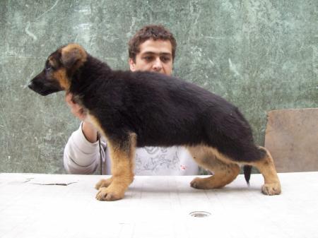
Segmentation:
{"type": "Polygon", "coordinates": [[[136,134],[130,133],[124,141],[108,141],[110,157],[112,159],[112,178],[110,184],[103,184],[102,179],[98,182],[99,188],[96,198],[100,201],[115,201],[122,199],[129,184],[134,180],[134,155],[136,149],[136,134]]]}

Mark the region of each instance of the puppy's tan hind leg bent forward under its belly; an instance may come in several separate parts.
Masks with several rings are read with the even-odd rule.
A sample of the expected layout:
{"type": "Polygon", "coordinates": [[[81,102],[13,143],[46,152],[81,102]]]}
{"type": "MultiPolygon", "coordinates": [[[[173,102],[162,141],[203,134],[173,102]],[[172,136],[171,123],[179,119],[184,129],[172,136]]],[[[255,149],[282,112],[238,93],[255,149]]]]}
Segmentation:
{"type": "Polygon", "coordinates": [[[238,165],[219,160],[213,150],[206,146],[188,147],[187,149],[201,167],[213,172],[211,177],[193,179],[190,185],[195,189],[220,189],[230,184],[240,173],[238,165]]]}

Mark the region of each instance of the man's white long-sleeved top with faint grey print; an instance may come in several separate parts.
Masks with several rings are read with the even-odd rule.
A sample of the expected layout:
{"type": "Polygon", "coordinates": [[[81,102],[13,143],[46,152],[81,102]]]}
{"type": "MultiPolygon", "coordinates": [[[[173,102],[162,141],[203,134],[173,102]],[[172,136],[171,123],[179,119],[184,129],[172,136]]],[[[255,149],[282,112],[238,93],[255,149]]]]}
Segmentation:
{"type": "MultiPolygon", "coordinates": [[[[107,141],[101,138],[102,174],[110,172],[107,141]]],[[[100,165],[98,142],[86,140],[81,126],[74,131],[64,148],[64,167],[71,174],[93,174],[100,165]]],[[[136,175],[196,175],[199,167],[192,155],[182,146],[144,147],[136,149],[136,175]]]]}

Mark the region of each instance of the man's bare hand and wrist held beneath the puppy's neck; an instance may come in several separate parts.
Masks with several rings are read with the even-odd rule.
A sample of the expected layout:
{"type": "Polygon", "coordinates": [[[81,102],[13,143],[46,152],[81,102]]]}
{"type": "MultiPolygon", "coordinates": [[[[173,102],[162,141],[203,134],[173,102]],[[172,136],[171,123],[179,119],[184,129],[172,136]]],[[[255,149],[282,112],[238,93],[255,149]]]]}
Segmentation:
{"type": "Polygon", "coordinates": [[[71,93],[66,93],[65,101],[71,108],[71,113],[75,117],[78,117],[79,119],[81,119],[81,121],[83,121],[82,131],[86,139],[90,143],[95,143],[97,141],[97,130],[95,129],[93,124],[91,124],[89,121],[86,121],[87,114],[84,111],[83,107],[73,101],[73,95],[71,93]]]}

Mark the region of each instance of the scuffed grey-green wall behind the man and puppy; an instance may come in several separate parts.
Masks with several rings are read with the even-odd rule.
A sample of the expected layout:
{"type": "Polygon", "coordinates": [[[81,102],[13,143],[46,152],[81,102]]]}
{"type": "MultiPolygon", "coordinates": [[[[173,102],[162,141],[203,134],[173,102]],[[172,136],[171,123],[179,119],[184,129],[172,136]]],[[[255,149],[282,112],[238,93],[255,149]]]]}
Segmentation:
{"type": "Polygon", "coordinates": [[[175,76],[222,95],[264,143],[266,112],[318,107],[318,1],[0,1],[0,172],[64,173],[78,128],[64,93],[27,88],[57,47],[82,44],[129,69],[127,44],[143,25],[177,38],[175,76]]]}

